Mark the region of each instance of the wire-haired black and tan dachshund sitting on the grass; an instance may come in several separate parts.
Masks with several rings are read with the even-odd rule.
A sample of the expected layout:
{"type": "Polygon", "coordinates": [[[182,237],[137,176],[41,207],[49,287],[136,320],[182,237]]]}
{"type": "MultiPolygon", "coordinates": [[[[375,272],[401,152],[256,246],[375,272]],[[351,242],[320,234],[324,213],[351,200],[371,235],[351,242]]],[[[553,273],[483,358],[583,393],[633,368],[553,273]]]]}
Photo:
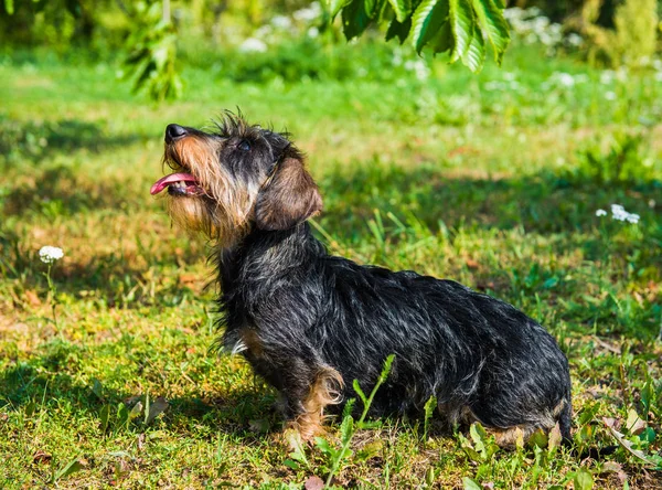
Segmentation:
{"type": "Polygon", "coordinates": [[[217,126],[168,126],[177,173],[151,193],[168,188],[172,220],[213,239],[223,345],[280,392],[303,438],[392,353],[374,414],[435,396],[449,423],[479,420],[501,445],[557,423],[569,438],[568,363],[543,327],[458,283],[329,255],[306,223],[322,199],[288,137],[231,114],[217,126]]]}

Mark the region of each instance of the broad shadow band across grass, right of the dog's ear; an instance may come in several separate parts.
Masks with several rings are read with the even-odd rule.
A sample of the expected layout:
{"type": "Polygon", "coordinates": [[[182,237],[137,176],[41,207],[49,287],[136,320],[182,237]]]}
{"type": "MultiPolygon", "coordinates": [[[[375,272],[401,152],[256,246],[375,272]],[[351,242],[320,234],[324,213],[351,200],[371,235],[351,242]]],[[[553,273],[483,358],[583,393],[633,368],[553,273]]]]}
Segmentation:
{"type": "Polygon", "coordinates": [[[380,210],[398,217],[413,215],[431,230],[444,222],[449,228],[521,226],[528,233],[572,233],[595,226],[598,209],[620,203],[641,212],[660,192],[656,181],[606,188],[552,171],[511,179],[447,177],[450,172],[442,164],[334,169],[320,179],[324,226],[345,237],[351,235],[348,231],[367,232],[365,222],[380,210]]]}

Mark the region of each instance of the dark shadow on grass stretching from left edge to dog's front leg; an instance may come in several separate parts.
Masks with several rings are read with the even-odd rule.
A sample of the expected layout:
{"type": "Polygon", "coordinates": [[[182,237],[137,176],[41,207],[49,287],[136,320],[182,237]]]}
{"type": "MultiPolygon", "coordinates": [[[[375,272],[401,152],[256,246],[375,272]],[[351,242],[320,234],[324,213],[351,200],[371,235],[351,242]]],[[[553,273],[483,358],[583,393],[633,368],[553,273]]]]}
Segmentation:
{"type": "MultiPolygon", "coordinates": [[[[143,432],[143,414],[122,422],[120,407],[124,404],[131,411],[138,402],[145,407],[145,393],[109,388],[102,375],[88,384],[76,381],[70,373],[78,370],[84,355],[88,354],[81,347],[56,339],[44,344],[42,351],[28,361],[10,364],[0,372],[0,412],[22,411],[30,418],[66,407],[65,414],[71,411],[74,420],[92,416],[98,419],[100,427],[106,409],[110,429],[117,430],[124,424],[122,430],[143,432]]],[[[161,394],[152,392],[150,395],[153,403],[161,394]]],[[[195,424],[207,426],[214,433],[254,434],[256,437],[279,429],[280,417],[274,409],[275,397],[269,390],[245,387],[231,395],[213,401],[203,401],[194,393],[168,398],[164,424],[174,432],[186,430],[195,424]]]]}

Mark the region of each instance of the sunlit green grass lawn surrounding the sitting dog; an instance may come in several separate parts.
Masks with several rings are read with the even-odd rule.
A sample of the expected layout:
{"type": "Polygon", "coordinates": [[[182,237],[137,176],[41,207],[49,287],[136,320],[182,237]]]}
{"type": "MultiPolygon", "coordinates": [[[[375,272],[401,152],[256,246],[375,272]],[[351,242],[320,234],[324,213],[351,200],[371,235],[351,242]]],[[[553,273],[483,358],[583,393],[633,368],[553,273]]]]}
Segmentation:
{"type": "MultiPolygon", "coordinates": [[[[352,49],[370,56],[370,44],[352,49]]],[[[334,484],[662,484],[662,84],[650,73],[602,83],[575,58],[516,46],[479,76],[442,61],[425,81],[371,70],[238,82],[192,63],[185,99],[154,106],[113,63],[0,58],[1,488],[327,478],[346,443],[340,420],[331,451],[274,444],[275,393],[239,358],[209,352],[205,243],[172,228],[148,192],[168,122],[204,125],[235,106],[287,126],[309,155],[325,205],[316,224],[333,252],[453,278],[528,312],[569,358],[578,446],[617,444],[612,430],[629,441],[583,460],[546,441],[495,450],[479,428],[442,434],[434,417],[385,419],[353,433],[334,484]],[[595,215],[611,203],[639,224],[595,215]],[[65,252],[53,297],[43,245],[65,252]]]]}

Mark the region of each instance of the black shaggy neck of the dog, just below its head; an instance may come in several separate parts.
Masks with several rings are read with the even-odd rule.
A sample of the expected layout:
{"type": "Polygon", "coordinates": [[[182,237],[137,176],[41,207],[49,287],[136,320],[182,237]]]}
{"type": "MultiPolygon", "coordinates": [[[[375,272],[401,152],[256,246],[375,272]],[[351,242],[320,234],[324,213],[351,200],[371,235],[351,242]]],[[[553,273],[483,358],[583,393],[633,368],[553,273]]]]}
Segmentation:
{"type": "Polygon", "coordinates": [[[274,284],[284,275],[309,268],[312,257],[323,255],[327,251],[308,223],[276,232],[254,228],[235,246],[216,251],[218,280],[224,294],[274,284]]]}

